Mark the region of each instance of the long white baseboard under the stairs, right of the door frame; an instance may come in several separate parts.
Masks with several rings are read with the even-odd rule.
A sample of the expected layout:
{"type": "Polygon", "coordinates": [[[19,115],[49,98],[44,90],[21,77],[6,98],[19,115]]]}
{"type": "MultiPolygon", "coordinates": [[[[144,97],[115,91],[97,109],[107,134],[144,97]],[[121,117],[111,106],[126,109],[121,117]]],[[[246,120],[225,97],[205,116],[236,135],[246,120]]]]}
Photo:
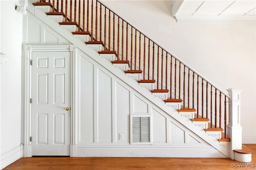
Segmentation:
{"type": "Polygon", "coordinates": [[[77,157],[194,157],[226,158],[212,146],[86,146],[77,145],[77,157]]]}

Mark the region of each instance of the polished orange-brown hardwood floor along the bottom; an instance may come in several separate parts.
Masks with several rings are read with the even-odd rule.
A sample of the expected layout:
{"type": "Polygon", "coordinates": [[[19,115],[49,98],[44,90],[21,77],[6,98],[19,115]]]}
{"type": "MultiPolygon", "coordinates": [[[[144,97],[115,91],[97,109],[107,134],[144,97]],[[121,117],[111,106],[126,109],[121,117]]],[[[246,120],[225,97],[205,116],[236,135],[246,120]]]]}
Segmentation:
{"type": "Polygon", "coordinates": [[[70,158],[66,156],[33,156],[20,158],[4,170],[229,170],[256,169],[256,144],[245,144],[253,150],[252,162],[230,158],[70,158]],[[234,167],[232,167],[234,166],[234,167]]]}

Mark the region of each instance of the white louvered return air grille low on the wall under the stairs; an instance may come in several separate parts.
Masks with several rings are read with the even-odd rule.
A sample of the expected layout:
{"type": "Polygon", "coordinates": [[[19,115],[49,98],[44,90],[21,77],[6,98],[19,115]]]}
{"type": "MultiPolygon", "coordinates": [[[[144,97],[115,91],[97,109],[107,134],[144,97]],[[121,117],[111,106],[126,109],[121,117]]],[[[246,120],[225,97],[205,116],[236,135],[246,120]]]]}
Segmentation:
{"type": "Polygon", "coordinates": [[[132,143],[150,143],[150,117],[132,117],[132,143]]]}

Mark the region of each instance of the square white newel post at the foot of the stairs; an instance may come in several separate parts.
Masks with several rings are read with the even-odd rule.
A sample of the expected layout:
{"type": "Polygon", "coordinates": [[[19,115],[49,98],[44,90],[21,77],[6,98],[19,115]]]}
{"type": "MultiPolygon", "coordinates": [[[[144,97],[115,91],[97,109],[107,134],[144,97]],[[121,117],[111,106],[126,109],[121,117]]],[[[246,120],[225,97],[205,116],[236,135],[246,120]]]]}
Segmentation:
{"type": "Polygon", "coordinates": [[[234,159],[234,151],[242,149],[242,127],[241,123],[241,89],[229,88],[228,95],[228,137],[230,138],[230,158],[234,159]]]}

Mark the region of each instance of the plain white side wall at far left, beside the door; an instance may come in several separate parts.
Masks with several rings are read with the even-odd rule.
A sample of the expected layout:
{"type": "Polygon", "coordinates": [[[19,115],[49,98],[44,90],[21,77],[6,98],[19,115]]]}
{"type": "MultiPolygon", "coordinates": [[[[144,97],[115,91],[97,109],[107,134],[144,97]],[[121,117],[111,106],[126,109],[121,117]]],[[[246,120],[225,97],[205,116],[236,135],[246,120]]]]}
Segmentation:
{"type": "Polygon", "coordinates": [[[0,65],[0,168],[21,156],[22,14],[16,12],[15,3],[18,1],[0,1],[0,52],[8,56],[8,62],[0,65]]]}

